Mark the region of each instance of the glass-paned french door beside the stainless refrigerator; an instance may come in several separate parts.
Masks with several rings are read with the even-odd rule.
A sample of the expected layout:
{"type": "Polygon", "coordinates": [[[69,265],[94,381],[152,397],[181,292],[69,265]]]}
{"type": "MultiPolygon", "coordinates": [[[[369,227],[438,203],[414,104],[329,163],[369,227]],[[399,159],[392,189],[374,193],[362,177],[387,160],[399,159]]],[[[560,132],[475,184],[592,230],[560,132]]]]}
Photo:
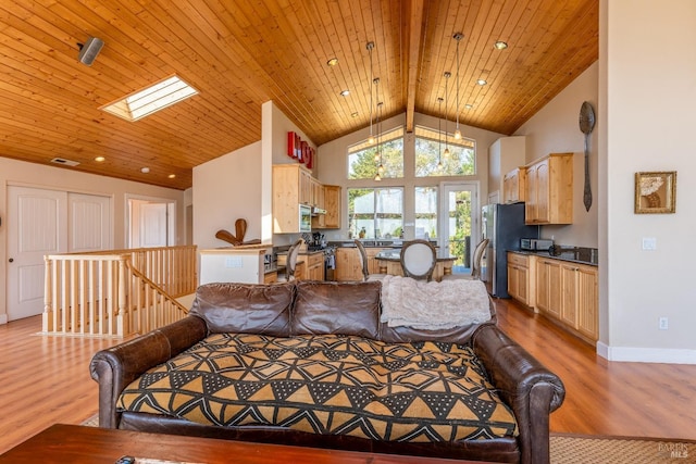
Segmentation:
{"type": "Polygon", "coordinates": [[[442,183],[439,192],[439,247],[457,256],[452,273],[471,273],[472,243],[481,237],[478,184],[442,183]]]}

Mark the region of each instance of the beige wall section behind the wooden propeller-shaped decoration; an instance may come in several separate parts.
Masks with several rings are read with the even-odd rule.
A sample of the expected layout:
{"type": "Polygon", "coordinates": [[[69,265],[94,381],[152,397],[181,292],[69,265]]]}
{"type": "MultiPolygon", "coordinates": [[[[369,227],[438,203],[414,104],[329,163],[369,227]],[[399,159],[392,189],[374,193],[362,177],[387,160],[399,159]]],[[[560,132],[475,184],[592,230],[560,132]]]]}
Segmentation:
{"type": "Polygon", "coordinates": [[[254,142],[194,167],[194,243],[199,250],[229,247],[215,238],[235,234],[247,221],[245,240],[261,238],[261,142],[254,142]]]}

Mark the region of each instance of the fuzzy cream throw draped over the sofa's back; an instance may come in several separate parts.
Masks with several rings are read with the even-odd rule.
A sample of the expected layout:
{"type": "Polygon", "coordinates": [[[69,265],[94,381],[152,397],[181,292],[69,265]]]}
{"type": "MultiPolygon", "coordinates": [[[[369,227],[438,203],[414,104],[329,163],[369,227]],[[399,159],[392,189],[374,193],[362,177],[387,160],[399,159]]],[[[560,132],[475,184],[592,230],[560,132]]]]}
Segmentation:
{"type": "Polygon", "coordinates": [[[481,280],[384,276],[382,305],[381,321],[389,327],[439,330],[490,319],[490,301],[481,280]]]}

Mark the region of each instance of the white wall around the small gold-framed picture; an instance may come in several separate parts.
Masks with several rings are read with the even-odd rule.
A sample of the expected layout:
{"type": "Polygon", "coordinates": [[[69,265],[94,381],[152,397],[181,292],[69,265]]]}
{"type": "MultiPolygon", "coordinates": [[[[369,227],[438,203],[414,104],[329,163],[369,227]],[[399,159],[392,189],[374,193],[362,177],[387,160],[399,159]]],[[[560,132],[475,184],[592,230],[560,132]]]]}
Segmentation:
{"type": "Polygon", "coordinates": [[[608,250],[600,353],[696,363],[696,2],[601,0],[600,18],[600,247],[608,250]],[[634,214],[641,171],[678,172],[675,214],[634,214]],[[643,237],[656,238],[657,250],[643,251],[643,237]],[[660,316],[668,330],[658,329],[660,316]]]}

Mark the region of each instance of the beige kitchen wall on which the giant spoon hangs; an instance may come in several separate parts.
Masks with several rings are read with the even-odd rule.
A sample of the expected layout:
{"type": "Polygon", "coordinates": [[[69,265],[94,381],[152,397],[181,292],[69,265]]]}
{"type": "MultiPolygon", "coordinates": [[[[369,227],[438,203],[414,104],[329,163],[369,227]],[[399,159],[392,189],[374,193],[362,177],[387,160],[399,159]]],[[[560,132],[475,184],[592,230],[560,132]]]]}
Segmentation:
{"type": "Polygon", "coordinates": [[[598,140],[606,124],[597,117],[589,139],[589,179],[593,192],[593,204],[589,211],[586,211],[583,204],[585,138],[579,124],[580,106],[583,101],[589,101],[597,115],[598,73],[599,63],[595,63],[514,133],[518,136],[526,136],[527,163],[549,153],[575,153],[573,156],[573,224],[542,227],[542,237],[554,237],[559,244],[598,248],[598,204],[606,201],[599,196],[598,189],[597,172],[600,159],[598,140]]]}

